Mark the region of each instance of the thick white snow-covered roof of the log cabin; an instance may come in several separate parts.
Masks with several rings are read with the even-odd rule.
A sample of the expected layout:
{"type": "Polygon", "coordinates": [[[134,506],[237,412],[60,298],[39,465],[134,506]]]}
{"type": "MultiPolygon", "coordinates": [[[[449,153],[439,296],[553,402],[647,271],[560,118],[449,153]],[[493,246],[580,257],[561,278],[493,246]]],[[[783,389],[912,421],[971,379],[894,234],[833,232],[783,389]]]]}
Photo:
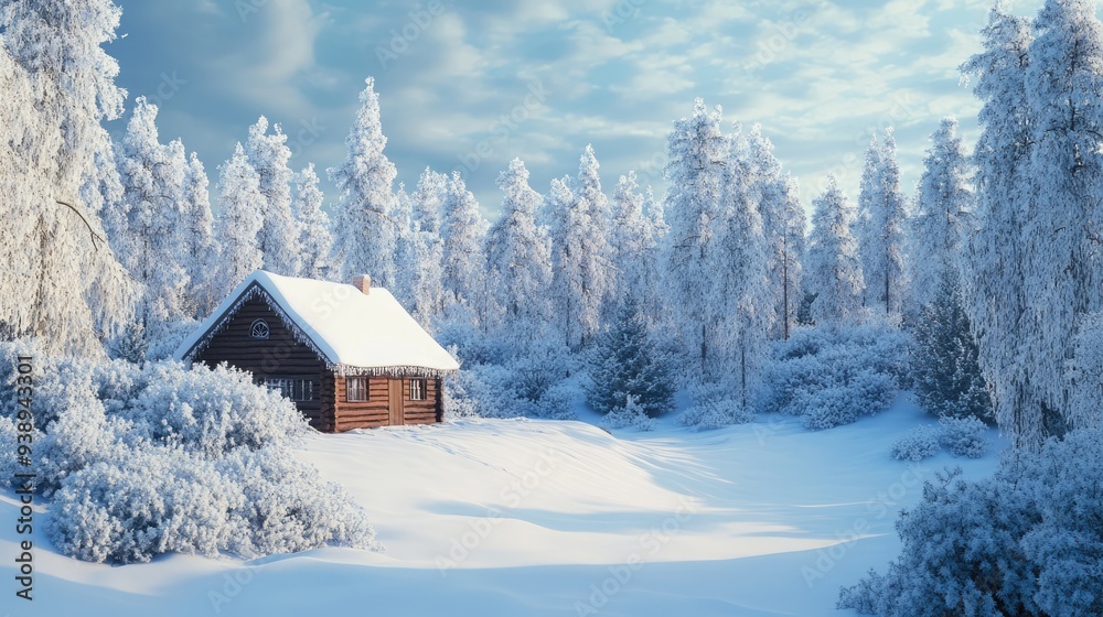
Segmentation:
{"type": "Polygon", "coordinates": [[[346,283],[281,277],[257,270],[195,329],[174,357],[191,359],[249,300],[263,297],[296,337],[341,375],[429,374],[459,369],[389,291],[362,293],[346,283]]]}

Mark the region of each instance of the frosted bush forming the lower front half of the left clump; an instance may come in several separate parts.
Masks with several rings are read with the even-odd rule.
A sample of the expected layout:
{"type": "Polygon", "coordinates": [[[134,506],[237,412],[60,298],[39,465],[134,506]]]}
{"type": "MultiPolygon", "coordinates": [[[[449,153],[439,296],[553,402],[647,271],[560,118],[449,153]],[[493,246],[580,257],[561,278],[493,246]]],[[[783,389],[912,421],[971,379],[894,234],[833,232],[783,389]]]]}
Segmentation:
{"type": "Polygon", "coordinates": [[[53,541],[94,562],[376,548],[363,510],[344,490],[278,446],[219,459],[178,447],[135,448],[73,474],[54,504],[53,541]]]}

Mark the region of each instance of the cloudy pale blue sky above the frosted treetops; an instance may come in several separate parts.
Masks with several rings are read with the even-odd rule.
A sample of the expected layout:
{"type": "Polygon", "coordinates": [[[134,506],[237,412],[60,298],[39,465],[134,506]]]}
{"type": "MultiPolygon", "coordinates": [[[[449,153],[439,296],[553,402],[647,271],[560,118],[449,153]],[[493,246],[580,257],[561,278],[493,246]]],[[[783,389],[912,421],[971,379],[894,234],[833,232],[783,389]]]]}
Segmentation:
{"type": "MultiPolygon", "coordinates": [[[[970,143],[977,101],[957,65],[979,48],[988,0],[116,0],[119,83],[161,107],[207,166],[260,115],[292,165],[344,156],[364,78],[386,153],[413,187],[426,165],[463,171],[484,212],[520,156],[532,184],[575,174],[592,143],[603,186],[636,170],[662,195],[666,133],[695,97],[725,123],[759,122],[805,203],[836,173],[856,197],[875,129],[895,126],[906,190],[946,115],[970,143]],[[432,11],[430,12],[430,9],[432,11]],[[436,14],[433,14],[436,13],[436,14]]],[[[1034,14],[1040,0],[1016,4],[1034,14]]],[[[129,105],[128,105],[129,107],[129,105]]],[[[122,122],[113,125],[118,134],[122,122]]],[[[324,176],[324,173],[320,173],[324,176]]],[[[336,198],[328,182],[326,201],[336,198]]]]}

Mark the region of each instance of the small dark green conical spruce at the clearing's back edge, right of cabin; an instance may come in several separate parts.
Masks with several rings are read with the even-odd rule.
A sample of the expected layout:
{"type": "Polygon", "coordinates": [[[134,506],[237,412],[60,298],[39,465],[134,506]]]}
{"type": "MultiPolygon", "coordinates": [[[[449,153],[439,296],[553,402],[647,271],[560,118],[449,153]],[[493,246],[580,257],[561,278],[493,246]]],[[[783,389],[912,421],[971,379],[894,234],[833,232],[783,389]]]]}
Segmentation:
{"type": "Polygon", "coordinates": [[[630,401],[651,418],[674,408],[671,359],[655,345],[635,302],[627,300],[596,342],[586,400],[599,413],[623,412],[630,401]]]}

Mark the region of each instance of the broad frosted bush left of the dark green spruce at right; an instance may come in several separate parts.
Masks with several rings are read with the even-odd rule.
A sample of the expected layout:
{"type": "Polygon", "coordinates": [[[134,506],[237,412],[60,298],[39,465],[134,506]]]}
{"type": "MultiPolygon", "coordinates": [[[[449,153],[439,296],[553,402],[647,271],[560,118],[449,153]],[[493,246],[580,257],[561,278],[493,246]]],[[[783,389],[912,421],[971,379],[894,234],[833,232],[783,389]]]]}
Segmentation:
{"type": "Polygon", "coordinates": [[[796,328],[774,347],[762,407],[812,430],[884,411],[904,385],[909,345],[887,325],[796,328]]]}

